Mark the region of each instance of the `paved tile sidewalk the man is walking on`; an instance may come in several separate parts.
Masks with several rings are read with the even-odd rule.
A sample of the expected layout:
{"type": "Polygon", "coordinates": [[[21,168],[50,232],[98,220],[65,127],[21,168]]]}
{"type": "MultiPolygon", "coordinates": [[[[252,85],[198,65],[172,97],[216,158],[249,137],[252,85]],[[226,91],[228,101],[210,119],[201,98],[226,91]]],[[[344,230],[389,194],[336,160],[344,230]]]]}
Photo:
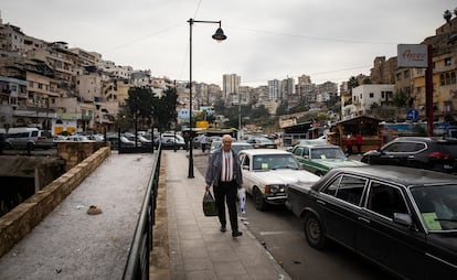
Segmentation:
{"type": "Polygon", "coordinates": [[[243,236],[234,239],[230,225],[221,233],[217,217],[203,215],[204,179],[196,169],[194,179],[188,179],[185,151],[162,155],[172,280],[290,279],[243,223],[238,223],[243,236]]]}

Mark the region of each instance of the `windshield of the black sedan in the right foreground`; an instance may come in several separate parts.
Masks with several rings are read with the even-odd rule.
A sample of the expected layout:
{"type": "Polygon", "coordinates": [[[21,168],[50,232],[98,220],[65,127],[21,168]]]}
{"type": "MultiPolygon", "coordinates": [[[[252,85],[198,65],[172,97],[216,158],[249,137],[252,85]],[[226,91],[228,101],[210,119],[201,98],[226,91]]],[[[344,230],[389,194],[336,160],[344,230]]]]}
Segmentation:
{"type": "Polygon", "coordinates": [[[457,185],[413,187],[411,193],[429,230],[457,229],[457,185]]]}

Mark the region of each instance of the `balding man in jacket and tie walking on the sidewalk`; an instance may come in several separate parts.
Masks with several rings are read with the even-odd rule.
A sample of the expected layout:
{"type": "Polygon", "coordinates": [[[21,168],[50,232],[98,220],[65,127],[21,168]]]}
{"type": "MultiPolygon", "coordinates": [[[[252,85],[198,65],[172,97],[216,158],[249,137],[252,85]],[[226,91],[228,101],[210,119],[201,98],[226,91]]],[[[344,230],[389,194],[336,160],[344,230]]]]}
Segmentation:
{"type": "Polygon", "coordinates": [[[240,166],[238,155],[232,150],[232,137],[225,134],[222,137],[222,147],[216,150],[210,158],[206,170],[206,191],[211,185],[214,187],[214,198],[219,211],[219,220],[221,222],[221,231],[226,231],[225,203],[228,208],[230,224],[232,227],[232,237],[242,236],[238,230],[238,219],[236,212],[237,189],[243,184],[243,177],[240,166]]]}

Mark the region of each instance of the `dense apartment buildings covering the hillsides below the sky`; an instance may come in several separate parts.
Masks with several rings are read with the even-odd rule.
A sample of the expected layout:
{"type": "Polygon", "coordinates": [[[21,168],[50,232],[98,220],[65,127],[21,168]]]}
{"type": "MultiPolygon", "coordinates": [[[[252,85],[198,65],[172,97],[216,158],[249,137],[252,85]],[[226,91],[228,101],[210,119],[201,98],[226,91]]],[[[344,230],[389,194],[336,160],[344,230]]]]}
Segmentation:
{"type": "MultiPolygon", "coordinates": [[[[433,45],[434,116],[437,121],[457,118],[457,18],[448,18],[435,35],[422,43],[433,45]]],[[[24,34],[0,19],[0,127],[31,126],[52,130],[100,131],[115,129],[121,118],[128,90],[147,86],[161,96],[167,87],[178,93],[178,121],[189,120],[188,80],[155,77],[150,71],[116,65],[102,54],[65,42],[45,42],[24,34]]],[[[215,103],[225,106],[264,106],[270,115],[279,107],[305,106],[325,110],[329,101],[341,104],[340,119],[370,115],[374,107],[403,106],[393,118],[405,119],[408,108],[426,119],[425,69],[397,68],[396,57],[378,56],[370,76],[355,75],[340,85],[315,84],[308,75],[270,79],[267,85],[242,85],[237,74],[224,74],[222,88],[192,83],[192,112],[211,111],[215,103]],[[395,100],[395,101],[394,101],[395,100]],[[400,104],[400,105],[398,105],[400,104]],[[209,109],[210,108],[210,109],[209,109]]]]}

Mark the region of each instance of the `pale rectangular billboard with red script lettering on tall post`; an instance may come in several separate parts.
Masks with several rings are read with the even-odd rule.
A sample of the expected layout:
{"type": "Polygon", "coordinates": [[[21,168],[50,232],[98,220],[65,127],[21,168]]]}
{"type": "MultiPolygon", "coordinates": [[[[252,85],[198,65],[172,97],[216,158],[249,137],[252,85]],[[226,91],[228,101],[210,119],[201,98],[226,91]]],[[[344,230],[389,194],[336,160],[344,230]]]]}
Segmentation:
{"type": "Polygon", "coordinates": [[[425,44],[398,44],[397,66],[407,68],[426,68],[428,62],[427,45],[425,44]]]}

